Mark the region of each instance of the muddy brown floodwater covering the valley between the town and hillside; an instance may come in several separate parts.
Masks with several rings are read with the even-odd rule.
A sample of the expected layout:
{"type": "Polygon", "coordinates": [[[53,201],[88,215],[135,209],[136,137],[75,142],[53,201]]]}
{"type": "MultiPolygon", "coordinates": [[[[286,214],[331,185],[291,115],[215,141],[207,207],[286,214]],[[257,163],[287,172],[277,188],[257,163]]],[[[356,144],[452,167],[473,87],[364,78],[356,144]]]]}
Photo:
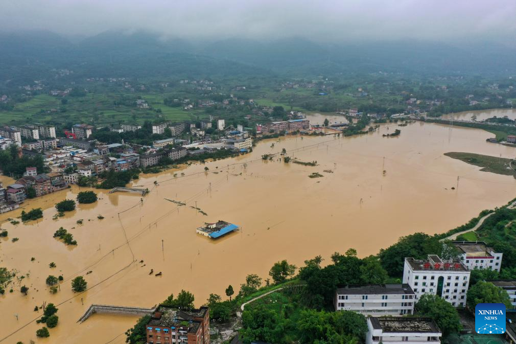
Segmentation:
{"type": "MultiPolygon", "coordinates": [[[[516,195],[513,177],[481,172],[443,155],[459,151],[514,157],[514,148],[486,143],[490,136],[423,122],[389,124],[347,138],[292,136],[265,140],[234,159],[141,175],[134,185],[151,191],[142,204],[139,196],[98,191],[96,204],[79,205],[52,220],[55,202],[74,198],[78,187],[27,201],[28,209],[44,208],[43,219],[2,224],[9,237],[0,243],[0,266],[25,278],[0,297],[0,342],[123,343],[123,332],[137,317],[93,315],[82,324],[76,321],[92,303],[151,307],[181,289],[193,292],[200,306],[209,293],[223,295],[229,284],[238,292],[249,273],[268,277],[280,259],[299,267],[305,259],[322,255],[328,260],[350,247],[366,256],[415,231],[444,232],[464,224],[516,195]],[[397,128],[398,137],[382,137],[397,128]],[[282,148],[318,165],[261,160],[262,154],[282,148]],[[309,178],[313,172],[324,177],[309,178]],[[457,176],[458,189],[451,190],[457,176]],[[196,205],[207,215],[190,208],[196,205]],[[79,219],[83,225],[76,224],[79,219]],[[196,234],[204,222],[217,220],[241,230],[216,241],[196,234]],[[61,226],[74,235],[76,247],[52,237],[61,226]],[[19,241],[11,242],[14,237],[19,241]],[[50,262],[57,267],[49,268],[50,262]],[[163,275],[149,275],[151,269],[163,275]],[[60,274],[65,278],[60,291],[50,294],[45,278],[60,274]],[[88,282],[83,294],[71,291],[71,279],[78,275],[88,282]],[[30,288],[28,295],[20,293],[21,285],[30,288]],[[59,324],[50,338],[38,339],[41,325],[34,320],[41,311],[33,309],[44,301],[58,305],[59,324]]],[[[0,220],[18,214],[3,214],[0,220]]]]}

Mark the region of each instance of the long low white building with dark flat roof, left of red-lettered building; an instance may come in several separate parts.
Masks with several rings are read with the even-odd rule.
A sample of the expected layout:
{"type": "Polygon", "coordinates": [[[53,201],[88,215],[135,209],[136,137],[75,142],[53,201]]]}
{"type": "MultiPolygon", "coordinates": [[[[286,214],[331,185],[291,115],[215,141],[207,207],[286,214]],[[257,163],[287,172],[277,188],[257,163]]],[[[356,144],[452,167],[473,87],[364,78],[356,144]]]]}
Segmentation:
{"type": "Polygon", "coordinates": [[[400,316],[414,313],[415,294],[408,284],[337,288],[335,310],[352,310],[366,316],[400,316]]]}

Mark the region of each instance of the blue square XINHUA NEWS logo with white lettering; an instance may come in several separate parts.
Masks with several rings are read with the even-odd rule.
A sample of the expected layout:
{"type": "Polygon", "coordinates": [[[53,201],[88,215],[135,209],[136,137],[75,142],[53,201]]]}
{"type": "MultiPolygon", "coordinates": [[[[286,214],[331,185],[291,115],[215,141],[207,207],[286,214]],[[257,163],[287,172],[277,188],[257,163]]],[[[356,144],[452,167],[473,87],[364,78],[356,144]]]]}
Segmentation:
{"type": "Polygon", "coordinates": [[[505,333],[505,305],[479,303],[475,306],[475,330],[478,334],[505,333]]]}

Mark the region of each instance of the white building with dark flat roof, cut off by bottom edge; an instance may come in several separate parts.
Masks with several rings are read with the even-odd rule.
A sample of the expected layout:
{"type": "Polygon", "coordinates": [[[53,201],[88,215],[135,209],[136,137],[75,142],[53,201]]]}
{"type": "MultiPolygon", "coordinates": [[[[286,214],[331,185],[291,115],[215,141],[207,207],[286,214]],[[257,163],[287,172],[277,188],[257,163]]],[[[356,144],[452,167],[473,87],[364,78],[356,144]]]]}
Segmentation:
{"type": "Polygon", "coordinates": [[[440,344],[442,332],[431,318],[367,318],[366,344],[440,344]]]}

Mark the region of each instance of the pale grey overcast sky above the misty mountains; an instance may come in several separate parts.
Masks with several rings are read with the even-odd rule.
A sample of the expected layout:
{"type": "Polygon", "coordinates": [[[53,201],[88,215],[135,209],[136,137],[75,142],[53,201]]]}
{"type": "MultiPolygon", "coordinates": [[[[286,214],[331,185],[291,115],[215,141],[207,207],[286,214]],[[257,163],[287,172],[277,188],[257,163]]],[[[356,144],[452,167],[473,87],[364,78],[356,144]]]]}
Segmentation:
{"type": "Polygon", "coordinates": [[[2,0],[0,30],[165,37],[511,39],[516,0],[2,0]]]}

